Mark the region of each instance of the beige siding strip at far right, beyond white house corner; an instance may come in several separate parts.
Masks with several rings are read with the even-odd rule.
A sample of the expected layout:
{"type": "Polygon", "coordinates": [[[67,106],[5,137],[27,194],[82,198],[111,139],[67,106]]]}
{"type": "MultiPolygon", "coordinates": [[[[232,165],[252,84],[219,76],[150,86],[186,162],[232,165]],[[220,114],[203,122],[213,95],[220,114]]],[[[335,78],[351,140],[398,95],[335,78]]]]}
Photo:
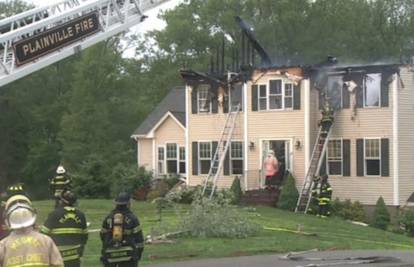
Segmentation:
{"type": "Polygon", "coordinates": [[[414,192],[414,82],[413,72],[401,68],[404,88],[399,89],[400,204],[414,192]]]}

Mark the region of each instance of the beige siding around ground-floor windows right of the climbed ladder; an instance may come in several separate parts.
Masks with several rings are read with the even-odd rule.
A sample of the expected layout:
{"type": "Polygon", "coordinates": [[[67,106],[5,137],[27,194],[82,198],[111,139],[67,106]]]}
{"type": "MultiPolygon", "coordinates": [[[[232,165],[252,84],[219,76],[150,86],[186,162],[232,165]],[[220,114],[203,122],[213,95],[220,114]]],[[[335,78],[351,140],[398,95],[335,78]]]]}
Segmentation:
{"type": "Polygon", "coordinates": [[[361,108],[357,110],[355,120],[351,120],[351,110],[339,111],[335,118],[331,138],[343,138],[351,141],[351,176],[330,176],[334,197],[358,200],[363,204],[375,204],[383,196],[387,205],[393,200],[392,171],[392,92],[389,93],[389,107],[361,108]],[[389,177],[356,176],[356,139],[389,139],[389,177]]]}

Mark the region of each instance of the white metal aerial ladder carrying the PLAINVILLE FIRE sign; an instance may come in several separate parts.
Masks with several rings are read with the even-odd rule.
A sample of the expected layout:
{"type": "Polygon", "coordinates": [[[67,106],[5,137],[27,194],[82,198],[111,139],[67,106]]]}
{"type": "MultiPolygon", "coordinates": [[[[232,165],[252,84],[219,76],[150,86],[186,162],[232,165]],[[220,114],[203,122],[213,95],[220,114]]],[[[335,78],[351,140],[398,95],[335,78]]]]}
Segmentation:
{"type": "Polygon", "coordinates": [[[0,87],[126,31],[142,22],[145,11],[167,1],[169,0],[65,0],[1,20],[0,87]],[[91,12],[98,13],[100,32],[25,65],[16,65],[13,44],[91,12]]]}

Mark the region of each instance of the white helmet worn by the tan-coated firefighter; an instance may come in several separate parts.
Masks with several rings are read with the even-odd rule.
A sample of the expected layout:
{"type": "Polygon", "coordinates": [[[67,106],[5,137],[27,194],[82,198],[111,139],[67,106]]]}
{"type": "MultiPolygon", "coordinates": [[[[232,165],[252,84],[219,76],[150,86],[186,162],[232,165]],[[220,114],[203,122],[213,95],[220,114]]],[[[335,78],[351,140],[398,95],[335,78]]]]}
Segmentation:
{"type": "Polygon", "coordinates": [[[30,199],[16,195],[6,202],[6,223],[11,230],[33,226],[36,222],[36,211],[30,199]]]}

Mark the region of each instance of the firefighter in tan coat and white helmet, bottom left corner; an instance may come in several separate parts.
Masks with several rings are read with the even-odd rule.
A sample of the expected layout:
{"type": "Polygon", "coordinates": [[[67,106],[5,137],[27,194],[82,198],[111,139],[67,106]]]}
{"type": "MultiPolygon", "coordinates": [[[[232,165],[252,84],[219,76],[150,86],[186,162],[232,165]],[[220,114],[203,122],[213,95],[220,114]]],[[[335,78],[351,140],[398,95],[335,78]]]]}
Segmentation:
{"type": "Polygon", "coordinates": [[[5,217],[11,233],[0,241],[0,266],[63,267],[63,260],[53,240],[34,230],[36,211],[23,195],[9,198],[5,217]]]}

